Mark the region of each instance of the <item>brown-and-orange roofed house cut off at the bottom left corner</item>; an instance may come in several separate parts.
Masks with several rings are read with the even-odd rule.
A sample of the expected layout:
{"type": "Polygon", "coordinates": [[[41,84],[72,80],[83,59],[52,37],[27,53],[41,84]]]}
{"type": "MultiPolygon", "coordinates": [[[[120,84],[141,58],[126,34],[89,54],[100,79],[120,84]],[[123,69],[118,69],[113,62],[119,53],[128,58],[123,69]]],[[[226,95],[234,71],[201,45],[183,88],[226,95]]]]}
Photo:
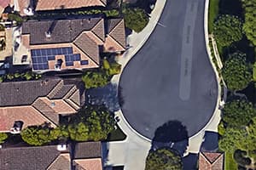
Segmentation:
{"type": "Polygon", "coordinates": [[[1,170],[102,170],[100,142],[0,149],[1,170]]]}

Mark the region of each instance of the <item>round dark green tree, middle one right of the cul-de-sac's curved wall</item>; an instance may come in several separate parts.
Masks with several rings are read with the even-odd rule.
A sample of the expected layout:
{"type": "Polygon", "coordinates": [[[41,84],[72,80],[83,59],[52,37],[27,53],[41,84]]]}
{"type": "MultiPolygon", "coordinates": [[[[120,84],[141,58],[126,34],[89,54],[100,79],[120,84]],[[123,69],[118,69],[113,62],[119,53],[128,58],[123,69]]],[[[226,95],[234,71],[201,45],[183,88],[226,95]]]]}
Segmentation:
{"type": "Polygon", "coordinates": [[[246,88],[252,81],[253,75],[250,65],[247,64],[245,54],[230,54],[230,58],[224,63],[224,82],[230,90],[246,88]]]}

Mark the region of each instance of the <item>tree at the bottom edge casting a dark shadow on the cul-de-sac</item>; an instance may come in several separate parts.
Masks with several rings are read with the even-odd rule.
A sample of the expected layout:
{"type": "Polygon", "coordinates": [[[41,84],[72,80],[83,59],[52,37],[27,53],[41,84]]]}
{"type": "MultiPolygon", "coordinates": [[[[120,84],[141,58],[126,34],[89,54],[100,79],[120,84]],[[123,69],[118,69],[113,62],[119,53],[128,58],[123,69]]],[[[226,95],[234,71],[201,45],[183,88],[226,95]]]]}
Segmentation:
{"type": "Polygon", "coordinates": [[[181,156],[175,150],[161,148],[149,151],[145,170],[181,170],[183,169],[181,156]]]}

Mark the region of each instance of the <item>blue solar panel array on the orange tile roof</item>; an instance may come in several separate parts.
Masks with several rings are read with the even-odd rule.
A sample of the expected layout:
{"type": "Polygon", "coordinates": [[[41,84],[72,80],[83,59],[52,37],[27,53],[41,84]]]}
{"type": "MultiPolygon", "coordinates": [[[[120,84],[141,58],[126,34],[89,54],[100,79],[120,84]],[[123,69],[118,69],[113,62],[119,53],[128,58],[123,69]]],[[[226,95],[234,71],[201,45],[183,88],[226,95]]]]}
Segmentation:
{"type": "MultiPolygon", "coordinates": [[[[65,55],[65,61],[67,66],[73,66],[73,61],[80,61],[80,54],[73,54],[73,48],[44,48],[44,49],[32,49],[32,65],[33,70],[48,70],[49,60],[55,60],[55,55],[65,55]]],[[[88,65],[88,60],[81,62],[81,65],[88,65]]]]}

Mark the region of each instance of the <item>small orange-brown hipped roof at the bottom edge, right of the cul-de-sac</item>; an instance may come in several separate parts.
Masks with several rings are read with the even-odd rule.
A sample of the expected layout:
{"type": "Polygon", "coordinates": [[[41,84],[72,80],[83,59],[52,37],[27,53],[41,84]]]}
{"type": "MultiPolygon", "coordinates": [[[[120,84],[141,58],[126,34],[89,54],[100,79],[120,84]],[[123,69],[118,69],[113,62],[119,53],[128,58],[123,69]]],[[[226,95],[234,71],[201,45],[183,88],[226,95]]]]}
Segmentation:
{"type": "Polygon", "coordinates": [[[223,170],[224,154],[216,152],[200,152],[199,170],[223,170]]]}

